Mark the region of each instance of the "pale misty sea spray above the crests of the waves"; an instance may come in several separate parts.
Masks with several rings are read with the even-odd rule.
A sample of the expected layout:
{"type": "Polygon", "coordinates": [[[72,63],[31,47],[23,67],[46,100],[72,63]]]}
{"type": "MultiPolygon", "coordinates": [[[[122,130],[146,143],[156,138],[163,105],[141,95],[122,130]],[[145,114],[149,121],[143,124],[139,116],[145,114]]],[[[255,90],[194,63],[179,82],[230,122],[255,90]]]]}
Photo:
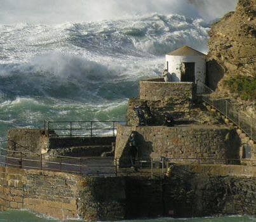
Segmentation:
{"type": "Polygon", "coordinates": [[[238,0],[2,0],[2,23],[63,23],[117,20],[150,13],[177,13],[188,18],[203,16],[205,20],[221,17],[234,10],[238,0]]]}

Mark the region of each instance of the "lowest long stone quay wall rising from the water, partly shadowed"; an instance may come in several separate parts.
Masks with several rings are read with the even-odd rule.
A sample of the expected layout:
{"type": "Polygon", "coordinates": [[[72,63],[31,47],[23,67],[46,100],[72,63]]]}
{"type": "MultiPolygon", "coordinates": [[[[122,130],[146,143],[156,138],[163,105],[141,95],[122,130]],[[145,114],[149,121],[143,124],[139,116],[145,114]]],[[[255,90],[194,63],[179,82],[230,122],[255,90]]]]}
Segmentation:
{"type": "Polygon", "coordinates": [[[28,209],[86,221],[256,214],[255,167],[176,165],[163,179],[89,178],[6,167],[0,173],[1,211],[28,209]]]}

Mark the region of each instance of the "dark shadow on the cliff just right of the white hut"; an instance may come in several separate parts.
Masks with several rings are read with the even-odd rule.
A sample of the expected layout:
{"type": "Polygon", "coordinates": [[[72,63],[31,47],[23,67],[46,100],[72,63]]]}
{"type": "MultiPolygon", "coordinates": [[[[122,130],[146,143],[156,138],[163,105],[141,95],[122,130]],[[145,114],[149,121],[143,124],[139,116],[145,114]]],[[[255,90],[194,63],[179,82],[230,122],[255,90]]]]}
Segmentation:
{"type": "Polygon", "coordinates": [[[224,77],[225,71],[216,60],[208,61],[206,66],[206,84],[215,91],[219,81],[224,77]]]}

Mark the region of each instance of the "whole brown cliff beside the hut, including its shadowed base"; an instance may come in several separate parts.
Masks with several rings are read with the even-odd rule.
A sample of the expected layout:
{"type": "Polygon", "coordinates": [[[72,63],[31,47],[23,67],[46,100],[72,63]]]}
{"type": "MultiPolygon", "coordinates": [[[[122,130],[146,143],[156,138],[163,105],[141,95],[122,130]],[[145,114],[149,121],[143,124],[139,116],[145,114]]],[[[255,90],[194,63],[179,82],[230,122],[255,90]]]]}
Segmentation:
{"type": "Polygon", "coordinates": [[[210,30],[208,54],[210,88],[217,88],[219,95],[236,98],[238,101],[241,92],[234,90],[232,83],[235,82],[238,88],[250,88],[250,104],[247,105],[254,107],[253,110],[256,100],[255,15],[256,0],[239,0],[236,11],[227,13],[210,30]],[[233,82],[227,84],[230,80],[233,82]]]}

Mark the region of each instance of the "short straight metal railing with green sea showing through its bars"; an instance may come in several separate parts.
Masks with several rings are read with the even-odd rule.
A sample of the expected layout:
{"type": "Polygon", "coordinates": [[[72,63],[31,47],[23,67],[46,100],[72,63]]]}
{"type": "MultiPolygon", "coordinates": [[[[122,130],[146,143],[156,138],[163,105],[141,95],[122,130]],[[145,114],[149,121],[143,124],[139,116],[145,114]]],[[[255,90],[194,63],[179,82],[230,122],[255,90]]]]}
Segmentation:
{"type": "Polygon", "coordinates": [[[47,136],[116,136],[119,121],[44,121],[47,136]]]}

